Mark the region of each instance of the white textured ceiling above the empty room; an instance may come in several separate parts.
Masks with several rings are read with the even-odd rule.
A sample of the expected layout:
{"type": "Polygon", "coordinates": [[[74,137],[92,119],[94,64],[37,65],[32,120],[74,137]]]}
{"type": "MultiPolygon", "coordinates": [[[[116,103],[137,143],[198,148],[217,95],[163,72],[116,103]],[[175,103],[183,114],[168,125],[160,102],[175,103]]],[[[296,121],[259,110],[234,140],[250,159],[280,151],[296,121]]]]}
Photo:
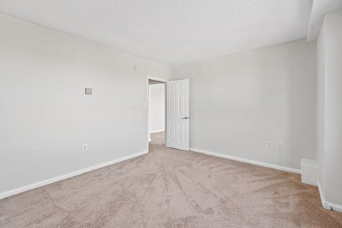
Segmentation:
{"type": "Polygon", "coordinates": [[[304,38],[311,0],[0,0],[0,12],[173,66],[304,38]]]}

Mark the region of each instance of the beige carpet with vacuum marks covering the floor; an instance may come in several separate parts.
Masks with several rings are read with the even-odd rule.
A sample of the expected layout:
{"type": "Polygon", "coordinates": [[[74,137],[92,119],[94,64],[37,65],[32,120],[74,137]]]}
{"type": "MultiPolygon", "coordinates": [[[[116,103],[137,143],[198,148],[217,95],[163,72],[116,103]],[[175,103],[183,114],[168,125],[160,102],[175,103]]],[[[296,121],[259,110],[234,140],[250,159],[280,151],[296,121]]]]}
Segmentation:
{"type": "Polygon", "coordinates": [[[0,227],[342,227],[300,176],[195,152],[150,153],[0,201],[0,227]]]}

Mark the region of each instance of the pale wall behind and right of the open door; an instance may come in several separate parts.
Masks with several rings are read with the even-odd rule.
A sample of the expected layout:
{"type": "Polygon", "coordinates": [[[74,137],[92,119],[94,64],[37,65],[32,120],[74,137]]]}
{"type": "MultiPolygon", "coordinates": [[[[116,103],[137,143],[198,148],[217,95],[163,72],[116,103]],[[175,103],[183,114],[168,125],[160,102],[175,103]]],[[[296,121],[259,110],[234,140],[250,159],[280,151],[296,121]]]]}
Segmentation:
{"type": "Polygon", "coordinates": [[[174,66],[171,78],[190,78],[190,147],[294,168],[316,160],[316,43],[174,66]]]}

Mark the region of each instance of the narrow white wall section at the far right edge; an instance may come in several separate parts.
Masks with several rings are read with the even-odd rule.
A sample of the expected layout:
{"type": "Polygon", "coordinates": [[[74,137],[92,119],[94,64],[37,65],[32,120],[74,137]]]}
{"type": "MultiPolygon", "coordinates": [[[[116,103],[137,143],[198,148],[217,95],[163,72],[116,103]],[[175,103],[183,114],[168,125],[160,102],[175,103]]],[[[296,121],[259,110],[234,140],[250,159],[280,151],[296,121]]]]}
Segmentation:
{"type": "Polygon", "coordinates": [[[342,10],[324,16],[318,36],[318,157],[326,202],[342,210],[342,10]],[[321,114],[320,114],[321,113],[321,114]]]}

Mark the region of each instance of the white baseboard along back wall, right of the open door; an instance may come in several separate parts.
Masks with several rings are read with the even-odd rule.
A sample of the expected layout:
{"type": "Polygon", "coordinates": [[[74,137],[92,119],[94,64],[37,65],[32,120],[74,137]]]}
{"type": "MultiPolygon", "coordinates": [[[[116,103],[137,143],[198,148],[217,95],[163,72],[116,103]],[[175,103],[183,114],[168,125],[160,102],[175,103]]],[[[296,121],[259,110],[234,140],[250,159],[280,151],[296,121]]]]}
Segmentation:
{"type": "Polygon", "coordinates": [[[212,155],[215,157],[223,157],[223,158],[227,158],[230,160],[236,160],[239,162],[246,162],[246,163],[253,164],[253,165],[260,165],[260,166],[269,167],[269,168],[276,169],[276,170],[281,170],[281,171],[286,171],[286,172],[294,172],[294,173],[301,174],[301,170],[290,168],[290,167],[284,167],[284,166],[280,166],[280,165],[272,165],[272,164],[268,164],[268,163],[264,163],[264,162],[257,162],[254,160],[249,160],[249,159],[245,159],[245,158],[241,158],[241,157],[233,157],[233,156],[229,156],[229,155],[222,155],[220,153],[209,152],[207,150],[199,150],[199,149],[195,149],[195,148],[190,148],[190,150],[194,151],[194,152],[200,152],[200,153],[206,154],[206,155],[212,155]]]}

